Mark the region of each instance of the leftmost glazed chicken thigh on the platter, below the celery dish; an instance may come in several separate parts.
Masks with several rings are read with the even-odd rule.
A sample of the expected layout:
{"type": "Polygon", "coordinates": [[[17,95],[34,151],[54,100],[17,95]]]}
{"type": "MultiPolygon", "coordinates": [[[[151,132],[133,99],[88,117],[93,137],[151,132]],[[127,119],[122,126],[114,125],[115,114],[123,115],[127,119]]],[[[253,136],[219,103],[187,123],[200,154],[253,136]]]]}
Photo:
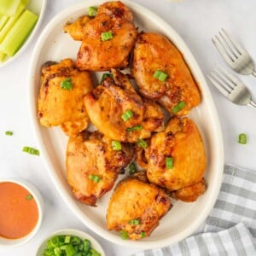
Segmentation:
{"type": "Polygon", "coordinates": [[[46,62],[42,67],[38,96],[38,118],[46,127],[61,125],[68,137],[83,131],[89,117],[84,108],[84,95],[93,89],[89,72],[80,72],[70,59],[60,63],[46,62]],[[61,88],[61,82],[71,79],[72,89],[61,88]]]}

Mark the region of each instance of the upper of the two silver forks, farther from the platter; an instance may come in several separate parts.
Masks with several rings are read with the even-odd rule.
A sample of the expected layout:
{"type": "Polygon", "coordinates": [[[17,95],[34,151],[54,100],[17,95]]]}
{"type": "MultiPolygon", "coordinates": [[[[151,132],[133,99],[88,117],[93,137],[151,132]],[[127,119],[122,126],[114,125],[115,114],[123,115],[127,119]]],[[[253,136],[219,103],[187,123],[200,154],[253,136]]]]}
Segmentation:
{"type": "Polygon", "coordinates": [[[252,74],[256,77],[253,59],[240,44],[222,28],[218,35],[212,38],[212,43],[220,55],[237,73],[252,74]]]}

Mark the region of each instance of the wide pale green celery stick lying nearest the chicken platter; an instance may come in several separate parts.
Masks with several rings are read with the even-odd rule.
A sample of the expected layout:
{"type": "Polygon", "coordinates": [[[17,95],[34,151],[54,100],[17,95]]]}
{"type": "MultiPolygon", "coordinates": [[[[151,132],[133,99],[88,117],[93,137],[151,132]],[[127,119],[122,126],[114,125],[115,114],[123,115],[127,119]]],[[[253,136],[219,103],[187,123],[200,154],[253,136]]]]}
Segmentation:
{"type": "Polygon", "coordinates": [[[37,20],[38,15],[35,15],[26,9],[3,39],[2,44],[0,44],[0,50],[6,55],[15,55],[15,52],[20,48],[28,34],[32,31],[37,20]]]}

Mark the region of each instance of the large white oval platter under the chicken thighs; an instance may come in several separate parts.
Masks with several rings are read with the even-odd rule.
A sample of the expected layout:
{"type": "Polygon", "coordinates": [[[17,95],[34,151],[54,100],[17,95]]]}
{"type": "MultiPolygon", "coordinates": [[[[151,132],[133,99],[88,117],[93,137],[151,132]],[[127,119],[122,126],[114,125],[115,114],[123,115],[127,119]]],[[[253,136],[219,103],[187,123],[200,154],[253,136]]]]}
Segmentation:
{"type": "MultiPolygon", "coordinates": [[[[130,1],[123,2],[132,10],[135,23],[140,31],[165,34],[177,46],[201,88],[202,102],[189,113],[189,117],[198,125],[207,151],[207,171],[205,174],[207,180],[206,193],[194,203],[172,200],[172,210],[160,220],[160,225],[154,230],[151,236],[141,241],[122,240],[118,232],[107,230],[106,210],[112,191],[109,191],[108,194],[104,195],[97,202],[97,207],[85,206],[73,198],[65,172],[67,137],[59,127],[45,128],[39,124],[37,119],[40,68],[45,61],[61,61],[61,59],[68,57],[75,60],[80,42],[73,41],[72,38],[65,34],[62,31],[62,26],[67,20],[74,20],[80,15],[86,14],[88,7],[100,5],[103,1],[84,0],[61,11],[59,15],[56,15],[49,22],[48,26],[44,28],[44,31],[38,38],[32,54],[29,70],[29,103],[32,125],[35,135],[38,138],[45,166],[49,170],[49,176],[55,184],[55,188],[59,191],[64,201],[67,202],[70,210],[90,230],[95,231],[98,235],[109,241],[127,247],[139,247],[141,249],[164,247],[191,235],[212,210],[218,196],[223,175],[224,148],[222,134],[218,114],[212,101],[207,82],[194,56],[183,42],[183,39],[178,36],[177,32],[170,25],[153,12],[137,3],[130,1]]],[[[42,175],[46,174],[42,173],[42,175]]],[[[123,177],[120,175],[119,179],[123,177]]]]}

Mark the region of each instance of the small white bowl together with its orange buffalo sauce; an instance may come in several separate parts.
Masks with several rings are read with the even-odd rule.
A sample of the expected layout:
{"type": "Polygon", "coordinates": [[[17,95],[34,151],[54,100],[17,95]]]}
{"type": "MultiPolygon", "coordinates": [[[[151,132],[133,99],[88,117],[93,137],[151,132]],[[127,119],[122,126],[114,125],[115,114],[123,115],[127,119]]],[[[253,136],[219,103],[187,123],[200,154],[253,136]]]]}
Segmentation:
{"type": "Polygon", "coordinates": [[[0,245],[20,245],[32,238],[42,221],[42,197],[25,181],[0,181],[0,245]]]}

